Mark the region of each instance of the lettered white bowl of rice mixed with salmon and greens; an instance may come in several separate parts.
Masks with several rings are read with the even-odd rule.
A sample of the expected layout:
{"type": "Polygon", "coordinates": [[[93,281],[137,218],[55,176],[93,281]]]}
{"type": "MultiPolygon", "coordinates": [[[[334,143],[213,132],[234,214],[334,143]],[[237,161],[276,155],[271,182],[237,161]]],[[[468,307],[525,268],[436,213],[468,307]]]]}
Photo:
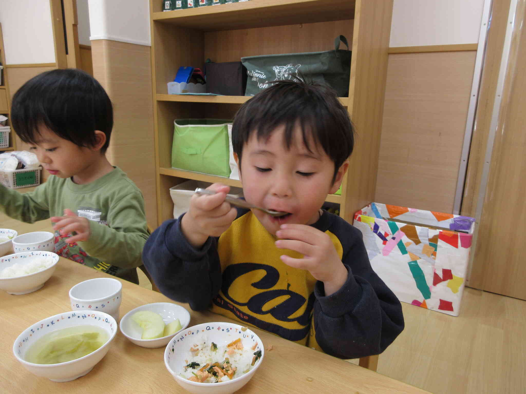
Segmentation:
{"type": "Polygon", "coordinates": [[[165,349],[165,365],[185,390],[229,394],[245,386],[265,356],[261,339],[234,323],[203,323],[180,331],[165,349]]]}

